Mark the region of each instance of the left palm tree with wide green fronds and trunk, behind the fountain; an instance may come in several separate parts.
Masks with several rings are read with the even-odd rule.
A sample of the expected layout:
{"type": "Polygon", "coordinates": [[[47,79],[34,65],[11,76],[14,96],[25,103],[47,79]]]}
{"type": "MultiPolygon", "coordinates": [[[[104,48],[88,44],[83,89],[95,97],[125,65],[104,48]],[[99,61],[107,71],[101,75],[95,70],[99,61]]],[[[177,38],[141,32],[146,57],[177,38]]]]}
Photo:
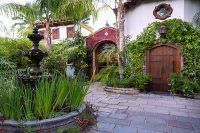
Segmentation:
{"type": "Polygon", "coordinates": [[[23,20],[21,24],[28,23],[32,26],[36,20],[41,20],[43,17],[46,26],[45,41],[48,48],[50,48],[50,21],[52,19],[71,19],[78,25],[88,27],[86,21],[83,20],[90,15],[95,15],[93,0],[35,0],[32,4],[34,6],[16,3],[0,5],[0,15],[13,16],[15,19],[23,20]]]}

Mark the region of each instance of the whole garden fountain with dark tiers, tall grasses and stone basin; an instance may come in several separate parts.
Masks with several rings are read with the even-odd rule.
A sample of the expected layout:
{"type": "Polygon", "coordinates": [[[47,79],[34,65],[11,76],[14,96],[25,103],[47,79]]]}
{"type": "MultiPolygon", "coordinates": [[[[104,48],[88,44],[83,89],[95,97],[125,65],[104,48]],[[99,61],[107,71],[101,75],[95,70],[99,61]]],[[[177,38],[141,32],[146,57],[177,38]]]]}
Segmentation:
{"type": "Polygon", "coordinates": [[[9,91],[8,98],[5,98],[5,103],[2,102],[5,108],[10,107],[10,105],[7,106],[7,104],[19,103],[16,104],[16,106],[18,105],[19,108],[17,111],[17,107],[11,108],[14,111],[9,110],[10,108],[8,109],[8,111],[6,110],[5,112],[3,110],[0,110],[0,133],[24,133],[27,132],[27,130],[28,132],[57,133],[60,130],[66,130],[76,123],[75,118],[78,117],[83,112],[83,110],[85,110],[86,105],[83,103],[83,99],[87,94],[89,86],[85,88],[82,80],[79,81],[78,79],[76,81],[68,80],[67,77],[63,76],[64,79],[61,82],[62,77],[58,78],[52,75],[44,75],[40,69],[40,62],[44,57],[47,56],[47,53],[39,49],[39,42],[44,37],[38,33],[38,29],[35,27],[33,29],[33,33],[28,35],[28,38],[33,42],[32,49],[28,52],[24,52],[23,55],[31,60],[30,71],[28,73],[18,75],[18,79],[20,80],[20,82],[28,86],[21,87],[20,84],[18,87],[16,87],[15,90],[13,89],[12,91],[9,91]],[[38,82],[39,87],[36,87],[36,83],[38,80],[46,80],[46,78],[48,79],[48,81],[46,82],[48,83],[47,86],[45,84],[45,86],[41,87],[41,82],[38,82]],[[57,82],[56,85],[54,84],[53,86],[51,83],[56,81],[56,78],[59,82],[57,82]],[[51,79],[54,79],[54,81],[51,81],[51,79]],[[68,87],[70,86],[66,85],[66,83],[69,83],[70,86],[76,89],[68,89],[68,87]],[[49,87],[48,85],[51,85],[51,87],[49,87]],[[29,91],[29,88],[31,89],[31,91],[29,91]],[[57,89],[62,89],[64,91],[57,91],[57,89]],[[68,92],[66,92],[67,90],[68,92]],[[56,94],[48,93],[50,91],[56,92],[56,94]],[[18,93],[16,94],[15,92],[18,93]],[[65,94],[65,92],[67,94],[67,98],[64,97],[63,99],[59,99],[61,101],[61,104],[56,102],[58,97],[60,98],[60,96],[62,94],[65,94]],[[14,96],[14,98],[10,98],[11,96],[14,96]],[[69,101],[73,101],[72,99],[74,99],[75,102],[68,102],[68,98],[71,98],[71,100],[69,101]],[[48,104],[47,108],[45,108],[47,105],[46,103],[50,103],[48,104]],[[66,105],[70,105],[67,108],[68,110],[66,109],[66,105]],[[76,106],[76,108],[74,108],[74,106],[76,106]],[[21,116],[13,118],[14,120],[12,118],[9,119],[10,113],[7,113],[9,111],[16,111],[16,114],[20,114],[21,116]],[[6,113],[7,115],[5,115],[6,113]],[[52,116],[52,113],[58,115],[52,116]]]}

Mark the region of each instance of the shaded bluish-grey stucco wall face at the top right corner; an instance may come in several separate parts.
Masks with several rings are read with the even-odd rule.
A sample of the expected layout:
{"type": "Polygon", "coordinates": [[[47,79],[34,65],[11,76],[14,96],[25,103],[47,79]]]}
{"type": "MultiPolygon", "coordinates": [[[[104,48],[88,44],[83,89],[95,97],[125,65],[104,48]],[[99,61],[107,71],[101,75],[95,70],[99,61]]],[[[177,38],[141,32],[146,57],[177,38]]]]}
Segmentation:
{"type": "Polygon", "coordinates": [[[197,12],[200,12],[200,0],[184,0],[185,21],[191,22],[197,12]]]}

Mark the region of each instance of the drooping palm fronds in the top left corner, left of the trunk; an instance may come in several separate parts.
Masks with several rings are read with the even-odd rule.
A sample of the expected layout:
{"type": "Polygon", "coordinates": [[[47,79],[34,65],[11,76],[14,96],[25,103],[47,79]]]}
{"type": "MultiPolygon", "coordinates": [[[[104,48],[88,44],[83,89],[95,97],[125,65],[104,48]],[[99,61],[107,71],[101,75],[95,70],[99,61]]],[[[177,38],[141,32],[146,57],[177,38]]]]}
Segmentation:
{"type": "Polygon", "coordinates": [[[21,35],[27,35],[30,33],[34,26],[35,20],[41,18],[41,13],[39,12],[37,5],[35,3],[27,2],[25,5],[16,3],[6,3],[0,5],[0,15],[12,16],[12,20],[17,21],[11,27],[15,29],[19,26],[18,31],[21,35]]]}

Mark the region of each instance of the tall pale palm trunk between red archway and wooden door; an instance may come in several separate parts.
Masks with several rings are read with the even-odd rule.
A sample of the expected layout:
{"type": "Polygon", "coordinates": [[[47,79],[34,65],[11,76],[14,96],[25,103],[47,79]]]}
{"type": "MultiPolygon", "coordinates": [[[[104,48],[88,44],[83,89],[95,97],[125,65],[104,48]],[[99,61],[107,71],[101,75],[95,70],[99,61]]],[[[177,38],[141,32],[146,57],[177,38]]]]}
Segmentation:
{"type": "Polygon", "coordinates": [[[117,7],[117,29],[118,29],[118,66],[120,80],[124,78],[124,4],[122,0],[118,1],[117,7]]]}

